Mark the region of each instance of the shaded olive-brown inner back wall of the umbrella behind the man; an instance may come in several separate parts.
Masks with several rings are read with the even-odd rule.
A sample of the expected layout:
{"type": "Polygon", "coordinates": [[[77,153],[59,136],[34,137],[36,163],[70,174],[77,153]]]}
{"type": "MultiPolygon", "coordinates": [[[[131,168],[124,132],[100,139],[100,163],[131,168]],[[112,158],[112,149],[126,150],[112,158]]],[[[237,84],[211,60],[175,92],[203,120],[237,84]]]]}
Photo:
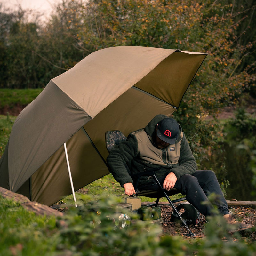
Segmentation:
{"type": "MultiPolygon", "coordinates": [[[[131,88],[84,125],[67,141],[68,158],[75,191],[109,173],[105,132],[118,129],[126,136],[145,127],[157,114],[170,115],[175,109],[148,94],[131,88]],[[92,146],[95,145],[99,151],[92,146]]],[[[32,200],[52,205],[71,194],[63,146],[32,175],[32,200]]]]}

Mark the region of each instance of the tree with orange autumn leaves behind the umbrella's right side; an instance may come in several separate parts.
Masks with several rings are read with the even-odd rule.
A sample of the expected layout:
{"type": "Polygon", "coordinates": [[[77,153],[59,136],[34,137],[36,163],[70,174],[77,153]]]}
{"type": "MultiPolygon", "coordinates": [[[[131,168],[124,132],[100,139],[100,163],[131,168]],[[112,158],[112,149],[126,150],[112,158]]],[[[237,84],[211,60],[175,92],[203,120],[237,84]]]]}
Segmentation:
{"type": "Polygon", "coordinates": [[[255,74],[250,72],[255,58],[246,67],[241,62],[253,52],[253,44],[243,45],[236,29],[240,25],[242,29],[247,18],[235,19],[234,4],[238,6],[235,0],[90,0],[77,9],[78,19],[71,20],[71,25],[78,28],[78,45],[84,55],[120,45],[208,53],[174,114],[193,141],[195,154],[206,158],[223,134],[211,122],[204,124],[204,117],[236,104],[242,93],[255,87],[255,74]]]}

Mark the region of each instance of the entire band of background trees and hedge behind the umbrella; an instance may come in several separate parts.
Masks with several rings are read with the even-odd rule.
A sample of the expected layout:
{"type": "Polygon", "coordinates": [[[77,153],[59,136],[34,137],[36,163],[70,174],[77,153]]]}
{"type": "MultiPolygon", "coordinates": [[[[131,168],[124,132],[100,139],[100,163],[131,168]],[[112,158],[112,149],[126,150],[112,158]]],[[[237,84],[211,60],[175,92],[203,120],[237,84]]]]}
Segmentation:
{"type": "Polygon", "coordinates": [[[255,6],[253,0],[63,0],[44,23],[0,6],[0,88],[44,87],[106,47],[206,52],[174,116],[195,156],[207,158],[223,133],[205,116],[256,94],[255,6]]]}

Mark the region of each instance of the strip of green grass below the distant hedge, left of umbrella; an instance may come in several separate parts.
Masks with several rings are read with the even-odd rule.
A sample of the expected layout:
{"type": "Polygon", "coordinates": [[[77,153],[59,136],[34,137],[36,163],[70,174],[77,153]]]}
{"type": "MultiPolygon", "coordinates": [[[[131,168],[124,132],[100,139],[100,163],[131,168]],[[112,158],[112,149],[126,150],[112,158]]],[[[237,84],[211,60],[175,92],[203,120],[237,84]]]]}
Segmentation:
{"type": "Polygon", "coordinates": [[[42,88],[38,89],[0,89],[0,108],[15,105],[25,106],[33,101],[42,92],[42,88]]]}

